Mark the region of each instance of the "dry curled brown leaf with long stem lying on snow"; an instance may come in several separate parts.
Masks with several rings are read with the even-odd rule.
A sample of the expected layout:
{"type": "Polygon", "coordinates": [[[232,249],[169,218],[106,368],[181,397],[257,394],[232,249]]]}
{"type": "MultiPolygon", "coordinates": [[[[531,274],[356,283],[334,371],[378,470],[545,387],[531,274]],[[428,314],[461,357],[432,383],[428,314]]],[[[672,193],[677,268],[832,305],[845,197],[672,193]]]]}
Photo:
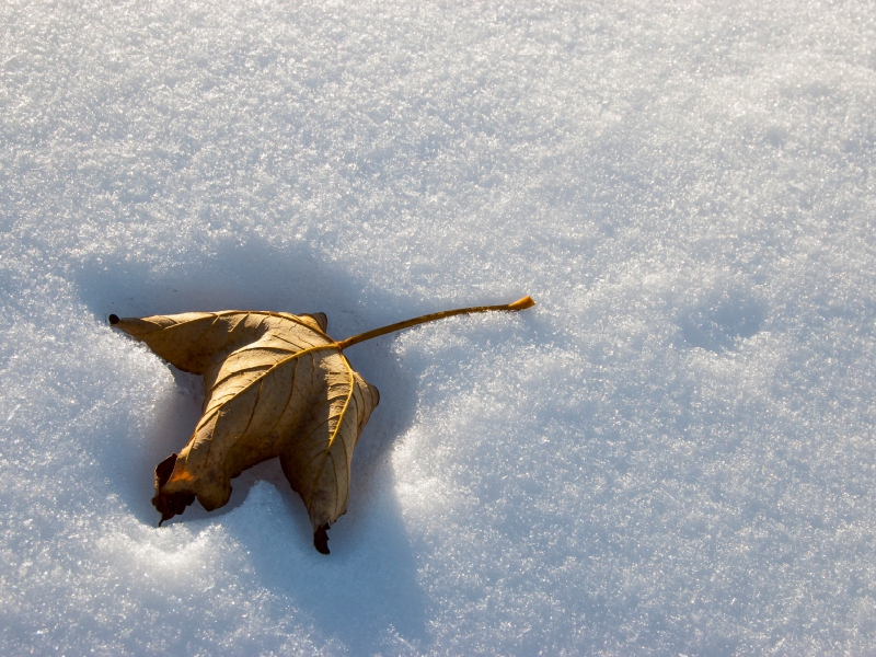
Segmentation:
{"type": "Polygon", "coordinates": [[[161,522],[195,498],[209,510],[228,503],[231,480],[279,457],[328,554],[326,530],[347,510],[353,449],[380,394],[342,353],[384,333],[453,314],[522,310],[464,308],[424,315],[335,342],[325,315],[229,310],[143,319],[110,315],[116,328],[146,343],[183,371],[204,377],[201,418],[186,446],[155,468],[152,504],[161,522]]]}

